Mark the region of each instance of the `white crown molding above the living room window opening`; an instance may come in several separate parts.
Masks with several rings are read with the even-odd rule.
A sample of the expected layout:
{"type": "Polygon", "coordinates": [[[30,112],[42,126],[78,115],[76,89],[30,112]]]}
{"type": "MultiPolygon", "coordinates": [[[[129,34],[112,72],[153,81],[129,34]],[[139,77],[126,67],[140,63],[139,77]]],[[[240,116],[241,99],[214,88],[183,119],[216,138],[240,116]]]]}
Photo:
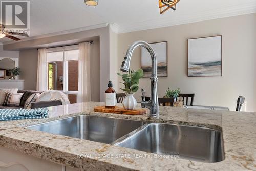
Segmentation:
{"type": "MultiPolygon", "coordinates": [[[[19,40],[18,42],[34,40],[34,39],[39,39],[39,38],[47,38],[47,37],[58,36],[58,35],[63,35],[63,34],[76,33],[76,32],[81,32],[81,31],[103,28],[106,26],[108,26],[108,23],[101,23],[101,24],[87,26],[87,27],[81,27],[81,28],[76,28],[76,29],[71,29],[71,30],[65,30],[65,31],[60,31],[60,32],[55,32],[55,33],[49,33],[49,34],[44,34],[44,35],[23,38],[22,40],[19,40]]],[[[15,41],[5,41],[5,42],[3,42],[3,45],[13,44],[14,42],[15,41]]]]}

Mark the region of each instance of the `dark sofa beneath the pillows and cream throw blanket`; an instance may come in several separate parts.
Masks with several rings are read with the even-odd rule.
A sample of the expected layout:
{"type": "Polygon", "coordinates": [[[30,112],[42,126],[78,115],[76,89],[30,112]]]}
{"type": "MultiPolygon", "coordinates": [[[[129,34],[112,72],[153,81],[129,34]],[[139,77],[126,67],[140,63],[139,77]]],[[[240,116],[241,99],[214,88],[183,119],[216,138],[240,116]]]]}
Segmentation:
{"type": "MultiPolygon", "coordinates": [[[[1,106],[0,109],[18,109],[18,108],[24,108],[26,100],[29,98],[30,95],[34,93],[42,93],[39,91],[33,91],[33,90],[18,90],[17,93],[24,93],[22,95],[22,98],[20,99],[19,106],[13,107],[13,106],[1,106]]],[[[62,105],[62,102],[59,100],[49,100],[49,101],[39,101],[39,102],[32,102],[31,103],[31,109],[34,108],[46,108],[51,106],[57,106],[62,105]]]]}

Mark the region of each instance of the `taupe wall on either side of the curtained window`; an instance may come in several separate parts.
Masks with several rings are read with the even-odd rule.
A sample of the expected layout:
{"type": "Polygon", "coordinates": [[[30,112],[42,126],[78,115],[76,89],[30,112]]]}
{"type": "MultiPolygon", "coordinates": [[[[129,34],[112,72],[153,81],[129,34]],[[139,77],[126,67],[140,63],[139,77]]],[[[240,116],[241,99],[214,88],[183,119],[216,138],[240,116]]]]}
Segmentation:
{"type": "MultiPolygon", "coordinates": [[[[100,100],[100,69],[99,62],[99,39],[95,39],[91,44],[91,99],[92,101],[100,100]]],[[[36,90],[37,76],[37,49],[20,51],[19,58],[20,69],[22,73],[20,79],[24,79],[25,90],[36,90]]]]}

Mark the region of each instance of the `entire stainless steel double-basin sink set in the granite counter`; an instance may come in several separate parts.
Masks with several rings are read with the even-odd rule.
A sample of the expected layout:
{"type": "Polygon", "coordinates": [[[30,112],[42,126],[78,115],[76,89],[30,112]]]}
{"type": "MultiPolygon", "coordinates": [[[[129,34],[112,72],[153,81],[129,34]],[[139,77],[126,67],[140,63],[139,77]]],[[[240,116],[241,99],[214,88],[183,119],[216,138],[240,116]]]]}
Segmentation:
{"type": "Polygon", "coordinates": [[[204,127],[80,115],[27,128],[200,162],[224,160],[221,131],[204,127]]]}

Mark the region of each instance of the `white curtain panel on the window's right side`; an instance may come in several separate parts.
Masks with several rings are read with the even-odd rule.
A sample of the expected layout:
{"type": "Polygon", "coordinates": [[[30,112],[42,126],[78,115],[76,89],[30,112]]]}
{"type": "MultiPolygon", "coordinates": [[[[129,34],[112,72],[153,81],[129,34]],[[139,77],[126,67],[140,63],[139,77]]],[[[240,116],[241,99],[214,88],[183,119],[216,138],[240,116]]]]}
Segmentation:
{"type": "Polygon", "coordinates": [[[79,74],[77,102],[91,101],[91,44],[79,44],[79,74]]]}

